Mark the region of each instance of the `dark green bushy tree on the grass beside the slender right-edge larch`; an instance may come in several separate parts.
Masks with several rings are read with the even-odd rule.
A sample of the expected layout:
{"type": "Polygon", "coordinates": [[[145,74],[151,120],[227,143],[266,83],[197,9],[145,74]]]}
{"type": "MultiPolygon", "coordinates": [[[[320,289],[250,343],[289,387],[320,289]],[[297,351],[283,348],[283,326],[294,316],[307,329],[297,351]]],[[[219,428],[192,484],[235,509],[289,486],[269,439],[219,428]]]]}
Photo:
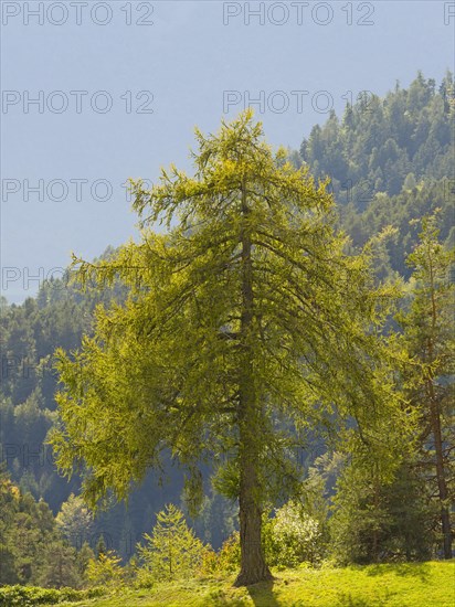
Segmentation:
{"type": "Polygon", "coordinates": [[[368,459],[350,458],[341,470],[329,520],[330,552],[340,564],[423,561],[433,534],[422,478],[411,450],[393,478],[378,477],[368,459]]]}

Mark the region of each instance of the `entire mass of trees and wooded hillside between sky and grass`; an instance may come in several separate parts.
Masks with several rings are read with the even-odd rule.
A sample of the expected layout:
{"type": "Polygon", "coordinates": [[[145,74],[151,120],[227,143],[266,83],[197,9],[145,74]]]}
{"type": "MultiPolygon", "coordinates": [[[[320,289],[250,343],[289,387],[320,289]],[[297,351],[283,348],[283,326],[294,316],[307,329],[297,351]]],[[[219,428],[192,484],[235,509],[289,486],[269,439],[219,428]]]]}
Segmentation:
{"type": "Polygon", "coordinates": [[[0,605],[453,558],[454,118],[419,73],[197,130],[137,243],[2,299],[0,605]]]}

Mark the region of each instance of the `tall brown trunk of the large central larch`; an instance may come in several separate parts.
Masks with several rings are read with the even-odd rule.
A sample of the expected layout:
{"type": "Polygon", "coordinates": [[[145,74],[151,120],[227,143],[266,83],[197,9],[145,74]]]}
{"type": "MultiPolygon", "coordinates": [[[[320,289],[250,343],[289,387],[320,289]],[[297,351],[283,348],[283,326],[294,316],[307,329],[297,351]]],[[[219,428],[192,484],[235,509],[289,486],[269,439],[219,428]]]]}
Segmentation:
{"type": "Polygon", "coordinates": [[[241,571],[234,585],[246,586],[272,579],[262,547],[262,496],[258,462],[261,454],[261,406],[254,385],[252,331],[254,320],[252,243],[247,217],[245,184],[242,187],[244,225],[242,244],[242,312],[239,373],[239,438],[240,438],[240,546],[241,571]]]}

